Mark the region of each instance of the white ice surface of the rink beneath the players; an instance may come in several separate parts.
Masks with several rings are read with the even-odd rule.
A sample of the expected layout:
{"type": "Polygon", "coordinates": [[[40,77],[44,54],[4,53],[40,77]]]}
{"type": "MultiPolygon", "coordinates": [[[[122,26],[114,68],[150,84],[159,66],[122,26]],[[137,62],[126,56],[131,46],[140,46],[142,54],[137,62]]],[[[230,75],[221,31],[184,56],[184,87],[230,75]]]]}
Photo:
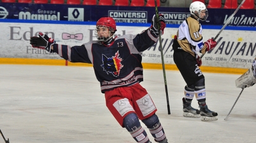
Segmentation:
{"type": "MultiPolygon", "coordinates": [[[[244,89],[224,120],[240,94],[234,81],[241,75],[203,72],[207,105],[219,120],[202,122],[182,116],[184,80],[178,71],[166,74],[170,115],[163,71],[145,69],[141,84],[169,143],[256,142],[256,86],[244,89]]],[[[0,129],[10,143],[135,142],[106,108],[93,67],[0,65],[0,93],[0,129]]],[[[192,105],[198,108],[195,99],[192,105]]]]}

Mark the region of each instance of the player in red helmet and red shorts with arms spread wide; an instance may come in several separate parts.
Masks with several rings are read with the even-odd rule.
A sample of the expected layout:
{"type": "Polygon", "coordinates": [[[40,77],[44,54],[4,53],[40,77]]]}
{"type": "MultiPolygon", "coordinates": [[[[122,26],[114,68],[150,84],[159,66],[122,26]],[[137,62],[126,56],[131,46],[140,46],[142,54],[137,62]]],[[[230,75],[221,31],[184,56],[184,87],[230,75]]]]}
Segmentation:
{"type": "Polygon", "coordinates": [[[101,92],[105,93],[106,106],[117,122],[127,129],[136,142],[151,142],[141,122],[150,130],[156,142],[167,143],[165,132],[156,115],[157,108],[150,94],[141,84],[143,81],[142,52],[158,40],[158,24],[163,33],[165,19],[160,14],[160,22],[153,16],[151,27],[137,35],[113,37],[117,31],[115,20],[100,18],[96,23],[96,41],[81,46],[55,43],[47,35],[31,37],[34,48],[55,52],[70,62],[93,64],[101,92]]]}

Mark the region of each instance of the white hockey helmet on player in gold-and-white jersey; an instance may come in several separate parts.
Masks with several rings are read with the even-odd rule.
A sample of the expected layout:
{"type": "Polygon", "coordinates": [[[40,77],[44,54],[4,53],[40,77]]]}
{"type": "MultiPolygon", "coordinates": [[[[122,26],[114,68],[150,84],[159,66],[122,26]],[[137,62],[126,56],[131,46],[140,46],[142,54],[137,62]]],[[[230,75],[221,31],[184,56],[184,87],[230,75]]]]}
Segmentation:
{"type": "Polygon", "coordinates": [[[190,13],[198,20],[205,21],[208,17],[208,11],[204,3],[195,1],[189,6],[190,13]]]}

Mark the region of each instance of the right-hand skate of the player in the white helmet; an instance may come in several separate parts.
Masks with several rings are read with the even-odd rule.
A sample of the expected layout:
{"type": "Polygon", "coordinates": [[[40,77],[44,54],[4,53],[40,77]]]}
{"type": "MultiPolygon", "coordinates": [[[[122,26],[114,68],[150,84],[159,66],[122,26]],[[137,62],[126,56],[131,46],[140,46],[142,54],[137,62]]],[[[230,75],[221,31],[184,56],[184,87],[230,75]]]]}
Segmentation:
{"type": "Polygon", "coordinates": [[[208,106],[202,106],[200,105],[200,115],[202,121],[215,121],[218,120],[217,115],[218,113],[212,112],[208,109],[208,106]]]}

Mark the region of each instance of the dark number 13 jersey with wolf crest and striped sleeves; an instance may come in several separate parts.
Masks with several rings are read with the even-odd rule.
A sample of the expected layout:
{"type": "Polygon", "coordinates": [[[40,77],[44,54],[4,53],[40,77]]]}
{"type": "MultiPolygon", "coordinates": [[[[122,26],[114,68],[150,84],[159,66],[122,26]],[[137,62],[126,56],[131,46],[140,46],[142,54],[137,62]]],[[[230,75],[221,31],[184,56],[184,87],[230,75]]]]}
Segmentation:
{"type": "Polygon", "coordinates": [[[101,92],[143,81],[141,54],[157,42],[148,28],[138,35],[115,37],[110,45],[91,41],[81,46],[54,44],[53,52],[70,62],[93,64],[101,92]]]}

